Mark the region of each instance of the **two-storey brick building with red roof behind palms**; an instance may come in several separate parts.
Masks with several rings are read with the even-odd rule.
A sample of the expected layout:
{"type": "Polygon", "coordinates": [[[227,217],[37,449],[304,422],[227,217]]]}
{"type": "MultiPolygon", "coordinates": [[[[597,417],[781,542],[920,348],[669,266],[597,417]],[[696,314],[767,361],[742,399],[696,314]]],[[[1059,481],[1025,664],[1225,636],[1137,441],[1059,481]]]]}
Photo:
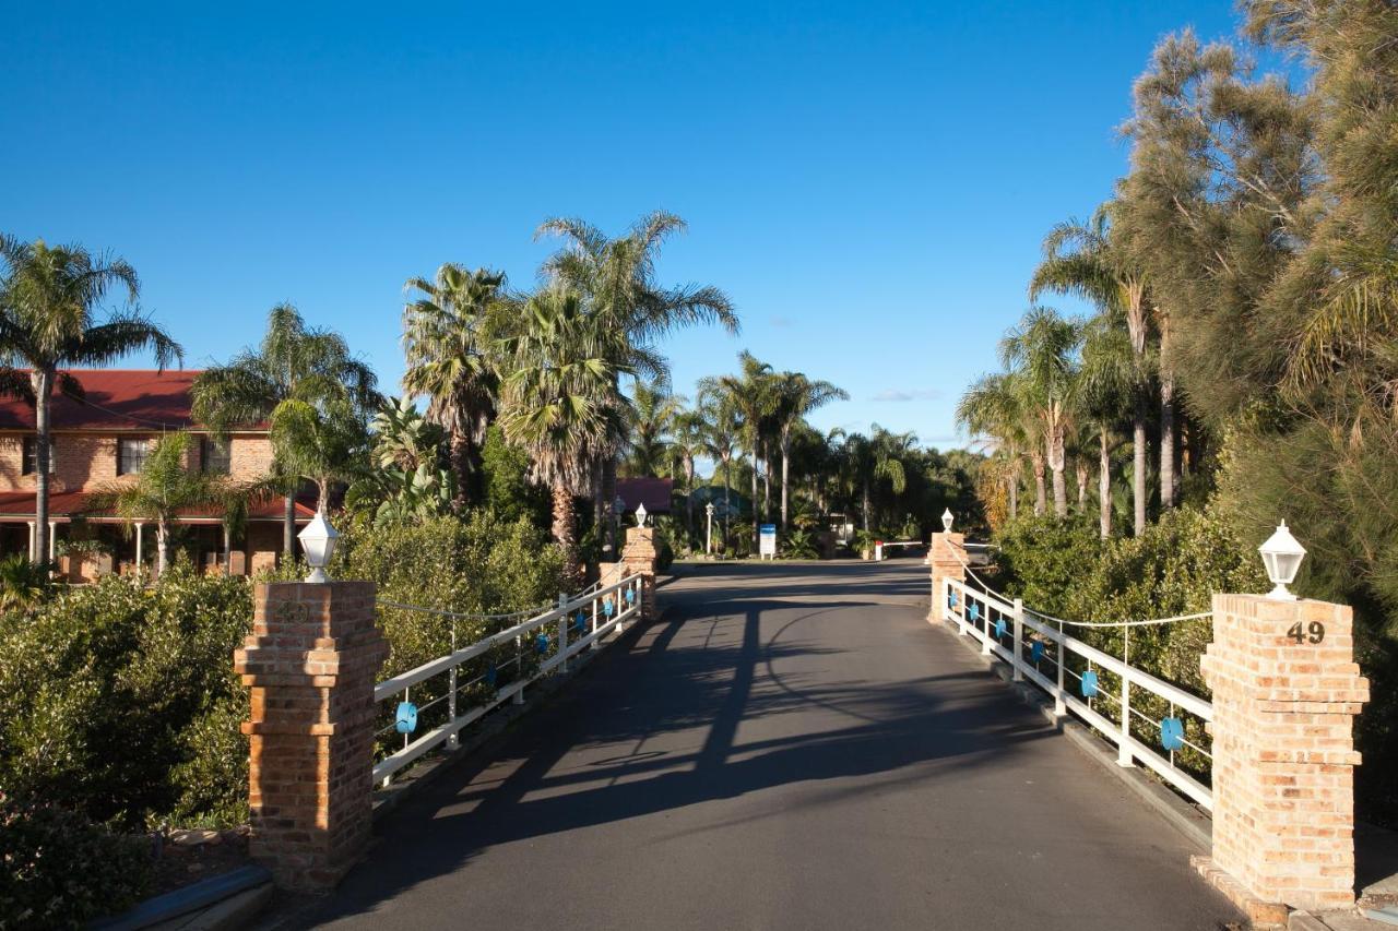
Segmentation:
{"type": "MultiPolygon", "coordinates": [[[[219,442],[190,419],[189,390],[199,372],[73,369],[70,375],[82,384],[84,400],[55,394],[50,407],[49,538],[98,540],[105,551],[60,556],[59,569],[73,582],[130,572],[137,565],[154,566],[154,524],[127,524],[91,512],[87,500],[103,485],[134,478],[162,433],[183,429],[194,436],[190,468],[250,481],[271,466],[266,428],[243,429],[219,442]]],[[[35,442],[32,405],[0,398],[0,556],[34,555],[35,442]]],[[[187,545],[207,569],[226,565],[235,575],[246,575],[273,565],[281,552],[282,513],[281,499],[257,502],[245,528],[232,535],[225,533],[218,513],[180,514],[178,542],[187,545]]],[[[296,502],[299,524],[313,514],[306,502],[296,502]]]]}

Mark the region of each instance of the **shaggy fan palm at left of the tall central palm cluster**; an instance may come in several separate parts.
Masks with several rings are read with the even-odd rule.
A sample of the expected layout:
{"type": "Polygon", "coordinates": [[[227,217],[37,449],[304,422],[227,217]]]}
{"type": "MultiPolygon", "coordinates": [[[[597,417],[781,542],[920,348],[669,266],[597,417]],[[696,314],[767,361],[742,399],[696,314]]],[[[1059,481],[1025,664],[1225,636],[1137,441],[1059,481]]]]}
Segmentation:
{"type": "Polygon", "coordinates": [[[428,419],[447,432],[456,471],[457,510],[467,505],[470,478],[495,415],[499,373],[491,362],[492,319],[507,302],[505,275],[445,263],[432,281],[408,278],[422,294],[403,309],[403,390],[428,397],[428,419]]]}

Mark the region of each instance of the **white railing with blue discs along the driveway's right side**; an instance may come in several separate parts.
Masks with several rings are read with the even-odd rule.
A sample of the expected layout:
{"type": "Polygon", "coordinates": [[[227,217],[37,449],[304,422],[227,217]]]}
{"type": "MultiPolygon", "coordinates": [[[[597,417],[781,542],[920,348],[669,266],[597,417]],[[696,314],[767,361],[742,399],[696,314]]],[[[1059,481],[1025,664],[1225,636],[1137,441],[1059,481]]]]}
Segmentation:
{"type": "Polygon", "coordinates": [[[1204,724],[1213,720],[1209,702],[1068,636],[1061,623],[1054,628],[1028,611],[1018,598],[1007,601],[993,591],[946,577],[935,596],[941,598],[942,618],[955,623],[962,635],[979,640],[981,653],[1008,663],[1014,681],[1029,681],[1047,692],[1054,700],[1054,714],[1064,717],[1071,712],[1116,744],[1121,766],[1139,762],[1205,809],[1213,809],[1213,791],[1208,783],[1177,765],[1177,755],[1186,748],[1212,762],[1204,732],[1204,724]],[[1044,667],[1050,667],[1047,674],[1044,667]],[[1114,695],[1099,685],[1100,672],[1117,679],[1114,695]],[[1167,707],[1169,714],[1152,719],[1132,707],[1132,689],[1159,699],[1153,705],[1167,707]],[[1184,714],[1190,716],[1192,728],[1184,726],[1184,714]],[[1166,735],[1166,726],[1162,724],[1166,719],[1179,721],[1181,731],[1166,735]],[[1149,726],[1159,739],[1152,744],[1142,741],[1132,734],[1132,721],[1138,723],[1137,734],[1149,726]]]}

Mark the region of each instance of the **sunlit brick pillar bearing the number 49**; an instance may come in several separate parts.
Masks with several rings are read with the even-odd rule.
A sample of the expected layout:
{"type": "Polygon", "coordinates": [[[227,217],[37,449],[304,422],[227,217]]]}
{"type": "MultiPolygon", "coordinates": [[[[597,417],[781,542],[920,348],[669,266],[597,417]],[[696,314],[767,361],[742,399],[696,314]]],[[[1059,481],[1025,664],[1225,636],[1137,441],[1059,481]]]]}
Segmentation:
{"type": "Polygon", "coordinates": [[[1213,596],[1212,860],[1265,903],[1355,903],[1352,724],[1369,681],[1350,625],[1345,605],[1213,596]]]}

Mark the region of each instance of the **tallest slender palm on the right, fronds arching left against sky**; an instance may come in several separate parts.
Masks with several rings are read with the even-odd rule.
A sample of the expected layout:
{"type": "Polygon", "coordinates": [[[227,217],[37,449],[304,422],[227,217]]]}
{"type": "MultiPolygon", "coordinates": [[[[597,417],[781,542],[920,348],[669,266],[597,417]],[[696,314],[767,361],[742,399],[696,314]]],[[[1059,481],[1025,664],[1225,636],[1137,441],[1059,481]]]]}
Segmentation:
{"type": "MultiPolygon", "coordinates": [[[[1058,224],[1044,238],[1044,259],[1029,282],[1029,299],[1046,291],[1071,294],[1095,303],[1104,313],[1121,313],[1134,361],[1132,410],[1132,498],[1135,535],[1145,533],[1145,460],[1146,460],[1146,337],[1149,299],[1144,270],[1111,235],[1111,204],[1103,204],[1088,222],[1069,219],[1058,224]]],[[[1173,440],[1169,459],[1173,464],[1173,440]]],[[[1162,445],[1163,446],[1163,445],[1162,445]]],[[[1163,453],[1162,453],[1163,454],[1163,453]]],[[[1162,459],[1165,464],[1165,459],[1162,459]]],[[[1162,491],[1163,493],[1163,491],[1162,491]]]]}

